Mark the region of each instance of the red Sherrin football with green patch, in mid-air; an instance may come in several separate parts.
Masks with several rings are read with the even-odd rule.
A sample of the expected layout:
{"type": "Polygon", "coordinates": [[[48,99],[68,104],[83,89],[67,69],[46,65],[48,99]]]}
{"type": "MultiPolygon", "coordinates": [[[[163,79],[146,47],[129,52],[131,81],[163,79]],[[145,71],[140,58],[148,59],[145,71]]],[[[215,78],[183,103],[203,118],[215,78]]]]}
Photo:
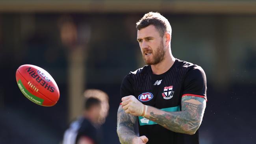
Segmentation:
{"type": "Polygon", "coordinates": [[[22,65],[16,71],[16,81],[24,96],[38,105],[50,107],[59,100],[59,88],[43,68],[22,65]]]}

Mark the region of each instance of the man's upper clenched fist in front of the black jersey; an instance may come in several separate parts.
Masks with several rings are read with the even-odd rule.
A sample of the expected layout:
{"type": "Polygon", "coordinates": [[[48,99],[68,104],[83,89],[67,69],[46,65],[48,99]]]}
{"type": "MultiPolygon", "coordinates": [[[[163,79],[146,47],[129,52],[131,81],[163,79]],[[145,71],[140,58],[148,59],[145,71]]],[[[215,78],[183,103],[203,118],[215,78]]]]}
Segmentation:
{"type": "Polygon", "coordinates": [[[143,105],[134,96],[125,96],[122,98],[122,109],[125,113],[130,113],[134,116],[141,116],[145,112],[145,105],[143,105]]]}

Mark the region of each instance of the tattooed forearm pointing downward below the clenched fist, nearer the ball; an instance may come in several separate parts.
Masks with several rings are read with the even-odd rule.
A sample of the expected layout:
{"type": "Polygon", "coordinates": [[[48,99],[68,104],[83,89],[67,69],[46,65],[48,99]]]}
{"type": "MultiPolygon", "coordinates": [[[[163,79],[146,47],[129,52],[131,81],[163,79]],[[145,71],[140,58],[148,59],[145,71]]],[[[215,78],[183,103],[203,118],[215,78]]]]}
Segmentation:
{"type": "Polygon", "coordinates": [[[134,132],[134,124],[136,116],[127,114],[120,106],[117,111],[117,134],[121,144],[132,144],[132,139],[136,137],[134,132]]]}

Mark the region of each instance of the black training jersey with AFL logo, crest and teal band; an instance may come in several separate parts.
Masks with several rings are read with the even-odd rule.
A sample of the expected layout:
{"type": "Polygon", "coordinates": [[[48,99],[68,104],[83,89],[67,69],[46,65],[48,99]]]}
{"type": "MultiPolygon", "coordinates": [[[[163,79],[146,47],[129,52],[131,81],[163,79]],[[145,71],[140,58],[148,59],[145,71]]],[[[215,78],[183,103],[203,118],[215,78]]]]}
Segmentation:
{"type": "MultiPolygon", "coordinates": [[[[181,111],[182,96],[206,98],[204,70],[192,63],[176,59],[171,68],[160,75],[152,74],[151,66],[144,66],[126,75],[121,85],[121,97],[133,95],[145,105],[163,111],[181,111]]],[[[175,133],[157,123],[138,116],[139,135],[145,135],[147,144],[198,144],[194,135],[175,133]]]]}

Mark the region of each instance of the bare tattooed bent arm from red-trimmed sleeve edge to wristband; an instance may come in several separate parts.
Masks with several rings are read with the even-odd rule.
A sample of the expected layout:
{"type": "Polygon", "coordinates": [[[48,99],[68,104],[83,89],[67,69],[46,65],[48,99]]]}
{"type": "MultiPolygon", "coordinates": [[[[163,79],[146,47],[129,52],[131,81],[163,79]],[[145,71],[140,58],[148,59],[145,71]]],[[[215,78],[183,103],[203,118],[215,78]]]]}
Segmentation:
{"type": "Polygon", "coordinates": [[[159,112],[152,109],[149,120],[161,126],[177,132],[193,135],[202,122],[206,100],[195,96],[182,97],[182,111],[179,112],[159,112]]]}

